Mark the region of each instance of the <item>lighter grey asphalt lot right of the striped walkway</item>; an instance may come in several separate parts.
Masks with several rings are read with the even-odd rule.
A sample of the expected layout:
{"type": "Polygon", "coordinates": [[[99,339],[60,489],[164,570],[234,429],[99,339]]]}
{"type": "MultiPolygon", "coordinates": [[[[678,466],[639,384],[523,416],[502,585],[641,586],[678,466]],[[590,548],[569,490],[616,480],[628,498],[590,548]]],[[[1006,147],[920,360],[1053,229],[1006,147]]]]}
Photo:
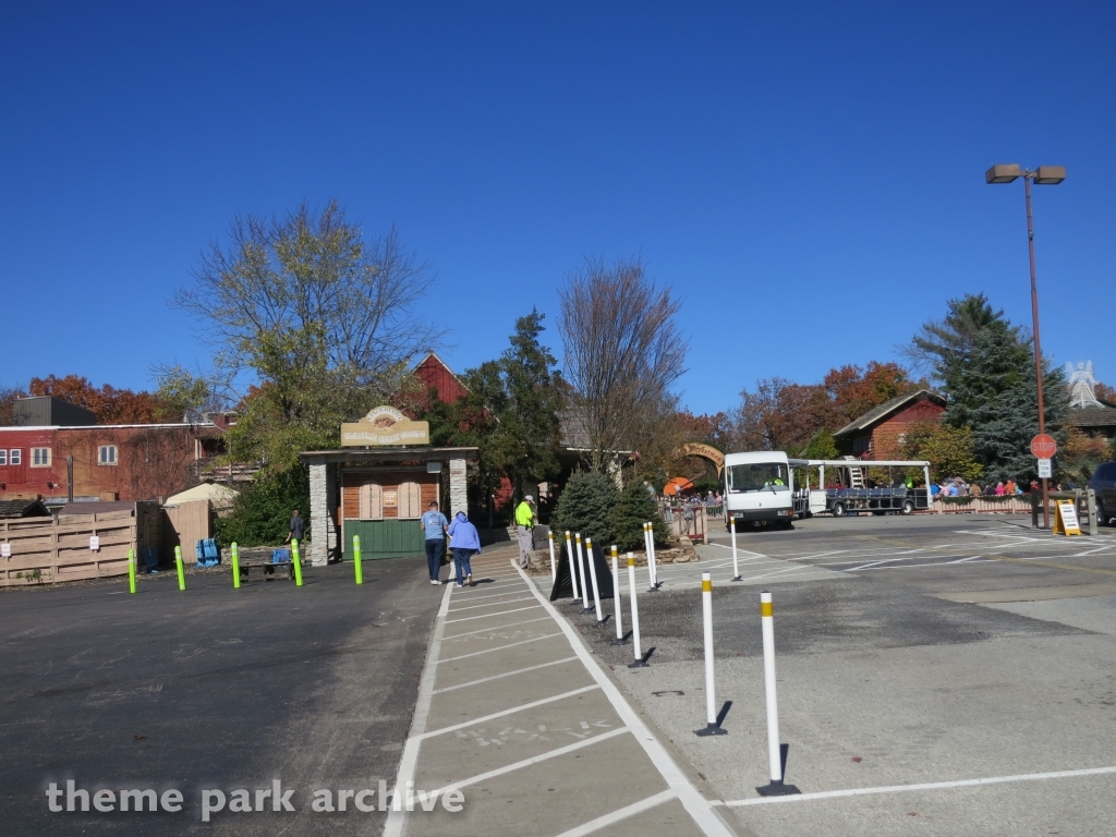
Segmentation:
{"type": "MultiPolygon", "coordinates": [[[[1007,516],[818,517],[639,570],[647,668],[569,604],[594,651],[742,833],[1110,835],[1116,815],[1116,530],[1055,538],[1007,516]],[[716,703],[704,725],[700,574],[714,578],[716,703]],[[787,781],[767,782],[759,593],[775,599],[787,781]],[[728,704],[728,705],[727,705],[728,704]],[[727,711],[725,711],[727,710],[727,711]],[[895,789],[898,786],[932,786],[895,789]]],[[[546,586],[546,585],[543,585],[546,586]]],[[[624,585],[626,590],[626,584],[624,585]]],[[[610,610],[610,606],[606,609],[610,610]]],[[[629,627],[629,625],[626,625],[629,627]]]]}

